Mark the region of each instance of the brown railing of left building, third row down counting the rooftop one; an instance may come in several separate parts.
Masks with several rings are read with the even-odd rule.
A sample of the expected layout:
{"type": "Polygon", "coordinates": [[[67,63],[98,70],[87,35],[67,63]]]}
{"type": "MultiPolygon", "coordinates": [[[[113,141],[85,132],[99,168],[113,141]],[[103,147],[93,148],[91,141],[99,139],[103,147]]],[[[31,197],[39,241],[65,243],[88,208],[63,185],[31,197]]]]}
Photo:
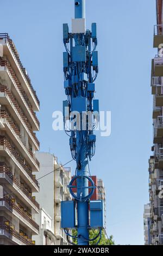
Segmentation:
{"type": "Polygon", "coordinates": [[[22,123],[24,124],[24,126],[26,127],[30,137],[32,137],[32,139],[34,140],[34,142],[39,146],[39,141],[38,139],[36,138],[36,135],[35,133],[33,132],[32,130],[32,126],[30,126],[27,118],[26,118],[26,115],[24,115],[24,113],[21,111],[21,108],[20,106],[17,104],[17,101],[15,99],[15,97],[12,96],[12,94],[10,93],[9,89],[7,88],[7,86],[2,86],[0,85],[0,92],[1,93],[4,93],[8,99],[10,100],[11,104],[14,106],[14,108],[16,109],[17,111],[17,114],[18,114],[18,117],[20,118],[20,120],[22,121],[22,123]]]}

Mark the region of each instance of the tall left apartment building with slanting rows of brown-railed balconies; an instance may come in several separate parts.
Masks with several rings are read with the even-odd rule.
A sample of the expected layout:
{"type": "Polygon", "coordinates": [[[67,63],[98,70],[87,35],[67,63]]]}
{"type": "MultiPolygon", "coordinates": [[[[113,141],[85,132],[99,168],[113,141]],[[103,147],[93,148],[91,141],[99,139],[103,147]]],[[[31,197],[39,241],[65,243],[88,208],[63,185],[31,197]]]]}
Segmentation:
{"type": "Polygon", "coordinates": [[[39,100],[8,34],[0,34],[0,105],[0,244],[34,245],[39,100]]]}

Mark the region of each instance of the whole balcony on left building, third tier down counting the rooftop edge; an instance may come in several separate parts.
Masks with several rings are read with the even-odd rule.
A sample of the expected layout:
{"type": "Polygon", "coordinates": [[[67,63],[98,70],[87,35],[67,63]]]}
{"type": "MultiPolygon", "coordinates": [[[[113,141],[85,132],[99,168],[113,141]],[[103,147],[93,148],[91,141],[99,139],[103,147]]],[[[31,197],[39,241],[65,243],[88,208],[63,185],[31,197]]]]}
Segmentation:
{"type": "Polygon", "coordinates": [[[17,121],[17,123],[20,123],[21,121],[31,141],[36,145],[36,147],[39,147],[39,141],[32,130],[32,126],[30,126],[26,115],[22,112],[20,106],[17,104],[17,101],[12,96],[7,86],[0,85],[0,101],[3,105],[8,105],[10,113],[12,113],[12,117],[17,121]]]}

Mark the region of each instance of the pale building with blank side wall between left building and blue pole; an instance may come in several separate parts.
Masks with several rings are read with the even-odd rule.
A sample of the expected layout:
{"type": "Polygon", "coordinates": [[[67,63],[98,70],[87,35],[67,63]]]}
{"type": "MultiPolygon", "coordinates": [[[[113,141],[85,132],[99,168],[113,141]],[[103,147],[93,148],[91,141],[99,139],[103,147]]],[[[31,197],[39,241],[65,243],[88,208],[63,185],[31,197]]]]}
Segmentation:
{"type": "Polygon", "coordinates": [[[40,162],[40,172],[36,175],[40,178],[47,173],[51,173],[40,179],[40,192],[36,194],[36,199],[40,204],[40,214],[36,216],[36,220],[40,223],[40,235],[33,236],[36,245],[45,245],[45,237],[48,233],[48,243],[54,242],[55,245],[68,245],[64,230],[61,228],[61,201],[72,200],[67,185],[71,180],[71,169],[64,168],[58,163],[57,157],[49,153],[36,153],[36,157],[40,162]],[[48,215],[42,219],[42,209],[48,215]],[[45,228],[46,227],[46,228],[45,228]]]}

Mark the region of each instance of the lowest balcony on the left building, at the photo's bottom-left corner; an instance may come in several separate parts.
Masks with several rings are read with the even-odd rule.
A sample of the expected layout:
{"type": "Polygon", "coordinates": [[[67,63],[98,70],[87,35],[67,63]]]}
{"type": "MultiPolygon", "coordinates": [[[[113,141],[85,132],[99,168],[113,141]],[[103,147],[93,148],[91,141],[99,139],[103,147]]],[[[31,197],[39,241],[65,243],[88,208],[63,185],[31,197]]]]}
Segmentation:
{"type": "Polygon", "coordinates": [[[0,226],[0,239],[7,238],[11,240],[14,245],[34,245],[33,241],[23,237],[16,230],[12,229],[9,225],[0,226]]]}

